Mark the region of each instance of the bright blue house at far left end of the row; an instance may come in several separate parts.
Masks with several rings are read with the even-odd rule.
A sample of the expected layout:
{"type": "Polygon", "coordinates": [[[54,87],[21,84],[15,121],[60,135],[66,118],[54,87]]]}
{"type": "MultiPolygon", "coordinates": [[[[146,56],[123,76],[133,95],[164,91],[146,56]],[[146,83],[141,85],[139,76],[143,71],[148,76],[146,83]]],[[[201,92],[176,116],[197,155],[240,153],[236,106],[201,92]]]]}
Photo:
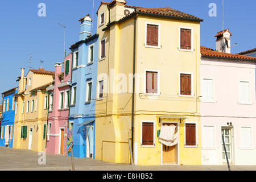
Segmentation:
{"type": "Polygon", "coordinates": [[[3,147],[13,147],[14,118],[16,114],[15,93],[18,93],[18,87],[2,93],[3,115],[0,146],[3,147]]]}

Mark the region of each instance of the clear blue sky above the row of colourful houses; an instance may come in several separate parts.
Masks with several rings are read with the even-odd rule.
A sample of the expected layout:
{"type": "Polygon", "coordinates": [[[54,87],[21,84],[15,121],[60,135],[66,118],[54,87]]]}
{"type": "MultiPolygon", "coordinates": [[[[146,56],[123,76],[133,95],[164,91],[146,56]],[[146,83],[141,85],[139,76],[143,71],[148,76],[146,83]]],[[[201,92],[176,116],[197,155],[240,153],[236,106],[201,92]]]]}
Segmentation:
{"type": "MultiPolygon", "coordinates": [[[[108,1],[108,0],[104,0],[108,1]]],[[[110,1],[110,0],[109,0],[110,1]]],[[[112,0],[111,0],[112,1],[112,0]]],[[[18,86],[16,78],[20,68],[28,71],[28,59],[32,54],[32,67],[54,70],[54,64],[63,61],[63,27],[67,26],[66,49],[79,39],[79,19],[92,14],[93,0],[9,0],[0,1],[0,93],[18,86]],[[38,4],[46,4],[46,17],[38,16],[38,4]]],[[[214,35],[222,29],[222,0],[127,0],[127,5],[141,7],[171,7],[204,19],[201,23],[201,46],[215,48],[214,35]],[[217,4],[217,17],[208,15],[209,3],[217,4]]],[[[94,19],[100,0],[94,3],[94,19]]],[[[225,27],[233,36],[232,53],[255,48],[256,2],[251,0],[225,0],[225,27]]],[[[96,26],[94,26],[96,32],[96,26]]],[[[1,100],[1,99],[0,99],[1,100]]]]}

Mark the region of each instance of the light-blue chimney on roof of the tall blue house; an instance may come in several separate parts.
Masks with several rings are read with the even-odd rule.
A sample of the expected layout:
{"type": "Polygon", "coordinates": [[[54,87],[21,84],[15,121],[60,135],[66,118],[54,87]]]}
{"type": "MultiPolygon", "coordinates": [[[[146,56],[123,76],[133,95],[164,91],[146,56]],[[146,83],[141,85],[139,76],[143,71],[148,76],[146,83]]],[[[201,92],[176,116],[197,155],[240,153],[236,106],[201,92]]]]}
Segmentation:
{"type": "Polygon", "coordinates": [[[92,35],[92,19],[90,15],[86,15],[79,20],[80,24],[80,33],[79,33],[79,41],[88,38],[89,35],[92,35]]]}

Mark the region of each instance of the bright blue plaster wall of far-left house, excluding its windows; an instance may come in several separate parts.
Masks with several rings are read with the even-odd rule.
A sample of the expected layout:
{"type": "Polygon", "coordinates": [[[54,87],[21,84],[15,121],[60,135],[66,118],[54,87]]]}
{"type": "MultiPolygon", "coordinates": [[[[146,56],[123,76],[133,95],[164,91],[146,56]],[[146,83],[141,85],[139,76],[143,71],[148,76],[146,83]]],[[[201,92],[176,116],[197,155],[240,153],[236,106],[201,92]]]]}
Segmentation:
{"type": "MultiPolygon", "coordinates": [[[[16,88],[15,92],[12,93],[7,93],[3,96],[3,100],[6,100],[6,105],[5,105],[5,112],[3,113],[3,117],[2,117],[2,125],[1,125],[1,130],[2,130],[2,126],[3,126],[3,130],[1,131],[1,133],[3,133],[3,138],[1,138],[0,136],[0,146],[6,147],[5,145],[5,127],[6,125],[10,125],[13,126],[13,133],[14,133],[14,118],[15,118],[15,100],[14,100],[14,110],[13,109],[13,95],[15,93],[18,93],[18,88],[16,88]],[[7,99],[9,98],[9,111],[6,111],[7,108],[7,99]]],[[[13,138],[15,136],[13,135],[13,138]]],[[[9,135],[9,147],[13,147],[13,139],[11,139],[11,132],[9,135]]]]}

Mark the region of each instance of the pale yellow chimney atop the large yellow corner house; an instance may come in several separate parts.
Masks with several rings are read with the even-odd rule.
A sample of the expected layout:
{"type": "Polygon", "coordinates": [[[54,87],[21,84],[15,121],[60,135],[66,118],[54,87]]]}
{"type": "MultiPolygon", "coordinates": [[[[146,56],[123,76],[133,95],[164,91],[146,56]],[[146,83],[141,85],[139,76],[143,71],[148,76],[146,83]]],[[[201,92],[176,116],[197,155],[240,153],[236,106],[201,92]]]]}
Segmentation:
{"type": "Polygon", "coordinates": [[[119,19],[123,18],[125,16],[125,0],[114,0],[112,3],[110,3],[110,9],[111,9],[111,21],[118,21],[119,19]]]}

